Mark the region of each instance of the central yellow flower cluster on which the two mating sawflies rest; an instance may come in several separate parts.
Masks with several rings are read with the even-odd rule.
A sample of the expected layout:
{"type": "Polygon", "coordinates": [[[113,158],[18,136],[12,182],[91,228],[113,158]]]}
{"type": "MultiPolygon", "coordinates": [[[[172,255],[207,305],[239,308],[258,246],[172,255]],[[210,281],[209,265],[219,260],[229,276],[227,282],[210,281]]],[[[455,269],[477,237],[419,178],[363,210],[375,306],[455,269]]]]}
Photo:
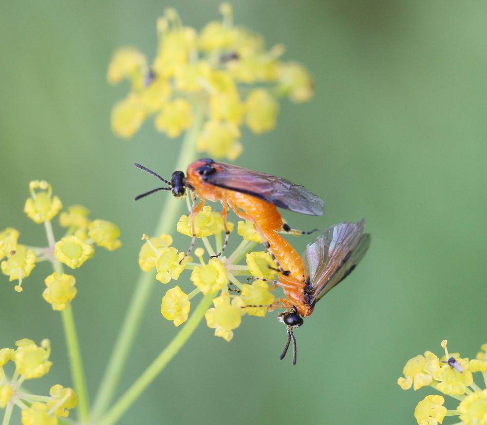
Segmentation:
{"type": "MultiPolygon", "coordinates": [[[[232,223],[227,223],[227,226],[229,230],[234,229],[232,223]]],[[[215,252],[218,250],[211,247],[207,237],[215,235],[215,240],[220,240],[221,244],[224,224],[219,212],[214,212],[211,207],[205,206],[194,219],[194,230],[196,236],[203,240],[210,258],[205,262],[203,258],[205,249],[201,247],[194,249],[199,264],[193,263],[191,257],[185,257],[184,251],[170,247],[172,238],[169,235],[143,236],[142,239],[146,244],[142,246],[139,253],[139,266],[142,270],[149,271],[156,267],[156,279],[162,283],[179,279],[184,269],[191,270],[189,280],[195,288],[189,294],[179,286],[175,286],[162,298],[161,313],[165,319],[172,320],[175,326],[184,323],[189,316],[190,300],[199,293],[215,297],[214,307],[206,312],[206,324],[215,329],[216,336],[226,341],[232,339],[233,330],[240,326],[242,316],[245,314],[265,316],[267,306],[273,303],[275,297],[270,293],[269,285],[262,279],[274,279],[276,272],[270,267],[275,264],[269,253],[265,251],[249,252],[257,240],[262,241],[257,237],[258,234],[253,230],[251,223],[239,222],[238,229],[239,234],[244,235],[239,248],[228,257],[215,257],[215,252]],[[237,258],[245,258],[246,265],[236,264],[237,258]],[[236,275],[247,275],[257,280],[252,284],[243,284],[235,278],[236,275]],[[229,289],[229,283],[237,286],[237,289],[229,289]],[[234,291],[239,295],[234,294],[234,291]],[[217,296],[219,292],[220,296],[217,296]]],[[[181,216],[177,230],[191,237],[191,217],[181,216]]]]}

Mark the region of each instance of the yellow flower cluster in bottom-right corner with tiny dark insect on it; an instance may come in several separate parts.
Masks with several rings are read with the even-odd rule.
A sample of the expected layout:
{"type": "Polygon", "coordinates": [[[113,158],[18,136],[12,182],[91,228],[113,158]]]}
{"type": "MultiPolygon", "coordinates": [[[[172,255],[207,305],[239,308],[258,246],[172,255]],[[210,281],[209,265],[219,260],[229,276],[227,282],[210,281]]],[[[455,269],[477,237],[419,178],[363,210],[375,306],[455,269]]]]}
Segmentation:
{"type": "Polygon", "coordinates": [[[443,394],[460,400],[456,410],[448,411],[443,406],[444,397],[428,395],[421,400],[414,411],[419,425],[442,423],[446,415],[459,415],[465,425],[487,424],[487,389],[482,390],[473,380],[472,373],[481,372],[487,386],[487,344],[474,360],[460,357],[458,353],[448,353],[447,340],[441,343],[445,355],[437,357],[430,351],[410,359],[404,366],[404,377],[397,380],[399,386],[407,390],[430,386],[443,394]]]}

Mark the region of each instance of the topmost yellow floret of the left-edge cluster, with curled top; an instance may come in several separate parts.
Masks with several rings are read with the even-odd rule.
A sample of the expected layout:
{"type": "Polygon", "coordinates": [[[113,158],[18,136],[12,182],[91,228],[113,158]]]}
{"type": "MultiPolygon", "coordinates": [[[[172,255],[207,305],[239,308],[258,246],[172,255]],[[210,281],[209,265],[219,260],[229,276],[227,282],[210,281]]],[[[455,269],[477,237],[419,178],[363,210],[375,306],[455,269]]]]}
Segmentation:
{"type": "Polygon", "coordinates": [[[62,203],[45,180],[33,180],[29,184],[32,197],[25,201],[24,212],[37,224],[51,220],[61,209],[62,203]],[[36,189],[40,189],[36,192],[36,189]]]}

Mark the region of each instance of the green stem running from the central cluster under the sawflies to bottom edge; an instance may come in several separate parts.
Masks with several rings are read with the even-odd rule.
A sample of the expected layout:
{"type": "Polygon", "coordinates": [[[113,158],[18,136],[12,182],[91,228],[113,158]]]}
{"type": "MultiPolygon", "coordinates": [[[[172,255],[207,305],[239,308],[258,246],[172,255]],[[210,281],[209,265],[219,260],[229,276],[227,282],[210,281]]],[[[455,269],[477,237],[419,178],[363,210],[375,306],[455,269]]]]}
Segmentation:
{"type": "Polygon", "coordinates": [[[150,385],[150,383],[168,365],[169,361],[179,352],[187,339],[196,330],[201,320],[205,317],[206,310],[211,305],[211,301],[217,294],[206,295],[198,304],[191,317],[188,319],[183,329],[172,339],[169,345],[159,354],[150,364],[142,375],[132,384],[114,406],[101,418],[98,425],[112,425],[127,411],[140,394],[150,385]]]}

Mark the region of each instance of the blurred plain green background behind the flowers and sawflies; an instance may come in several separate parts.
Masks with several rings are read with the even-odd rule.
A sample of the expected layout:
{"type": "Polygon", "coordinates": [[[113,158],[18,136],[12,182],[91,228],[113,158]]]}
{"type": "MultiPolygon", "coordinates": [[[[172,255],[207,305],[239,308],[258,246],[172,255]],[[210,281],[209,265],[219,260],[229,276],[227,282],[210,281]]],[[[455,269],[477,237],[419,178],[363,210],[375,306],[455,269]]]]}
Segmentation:
{"type": "MultiPolygon", "coordinates": [[[[131,142],[112,135],[110,111],[127,87],[108,86],[107,65],[125,44],[152,57],[165,7],[201,28],[218,18],[218,4],[0,6],[0,229],[44,243],[43,227],[22,209],[29,180],[47,179],[65,206],[81,203],[122,231],[121,249],[98,249],[74,273],[92,397],[139,274],[140,236],[153,230],[165,199],[132,201],[154,186],[132,163],[169,177],[179,150],[149,123],[131,142]]],[[[425,350],[441,354],[443,338],[468,357],[487,342],[487,4],[246,0],[234,1],[234,12],[269,45],[285,44],[284,58],[304,63],[316,81],[312,101],[281,104],[274,131],[244,132],[237,163],[325,199],[324,217],[286,212],[295,227],[365,217],[372,247],[296,332],[296,367],[278,360],[286,334],[275,314],[245,317],[230,343],[200,325],[120,423],[412,424],[416,403],[431,392],[400,390],[405,362],[425,350]]],[[[310,239],[293,243],[302,251],[310,239]]],[[[51,372],[29,382],[38,393],[71,384],[59,314],[41,298],[50,273],[37,266],[22,294],[1,276],[0,346],[21,337],[52,341],[51,372]]],[[[120,392],[176,333],[159,312],[169,287],[154,284],[120,392]]]]}

